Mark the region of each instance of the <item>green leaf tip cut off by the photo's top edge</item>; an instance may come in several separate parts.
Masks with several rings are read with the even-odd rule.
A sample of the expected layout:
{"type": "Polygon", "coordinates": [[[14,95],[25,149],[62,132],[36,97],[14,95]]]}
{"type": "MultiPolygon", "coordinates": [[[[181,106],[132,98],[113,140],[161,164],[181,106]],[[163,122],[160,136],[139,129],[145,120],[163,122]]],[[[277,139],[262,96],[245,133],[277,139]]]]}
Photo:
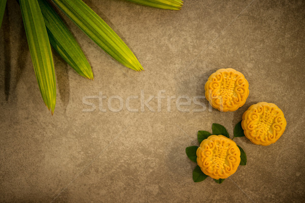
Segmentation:
{"type": "Polygon", "coordinates": [[[180,0],[127,0],[136,4],[155,7],[159,9],[180,10],[183,1],[180,0]]]}

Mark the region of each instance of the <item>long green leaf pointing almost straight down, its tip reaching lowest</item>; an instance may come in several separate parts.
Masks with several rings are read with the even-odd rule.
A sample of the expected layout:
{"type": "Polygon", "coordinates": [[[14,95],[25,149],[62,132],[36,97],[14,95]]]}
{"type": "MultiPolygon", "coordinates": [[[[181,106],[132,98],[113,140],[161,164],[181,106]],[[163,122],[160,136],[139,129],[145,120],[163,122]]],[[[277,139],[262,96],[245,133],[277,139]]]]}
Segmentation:
{"type": "Polygon", "coordinates": [[[37,0],[20,0],[21,14],[34,71],[44,103],[53,114],[56,82],[51,46],[37,0]]]}

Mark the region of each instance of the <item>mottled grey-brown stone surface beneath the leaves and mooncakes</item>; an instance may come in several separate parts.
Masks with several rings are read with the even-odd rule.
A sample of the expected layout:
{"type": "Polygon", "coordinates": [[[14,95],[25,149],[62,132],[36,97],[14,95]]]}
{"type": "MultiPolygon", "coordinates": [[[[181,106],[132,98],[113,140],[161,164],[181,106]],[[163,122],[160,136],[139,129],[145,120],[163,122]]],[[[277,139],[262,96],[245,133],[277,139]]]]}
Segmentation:
{"type": "MultiPolygon", "coordinates": [[[[54,53],[57,103],[43,104],[25,39],[20,9],[8,1],[0,30],[1,202],[304,202],[305,2],[185,1],[181,11],[120,0],[84,0],[136,54],[137,73],[109,57],[60,11],[83,48],[95,80],[80,77],[54,53]],[[153,98],[204,95],[208,76],[233,67],[249,81],[246,104],[235,112],[182,106],[153,98]],[[132,99],[130,112],[82,112],[82,98],[132,99]],[[259,101],[275,103],[287,120],[283,136],[267,147],[234,141],[248,155],[223,184],[194,183],[185,148],[198,145],[198,130],[216,122],[234,125],[259,101]]],[[[185,100],[181,100],[185,101],[185,100]]],[[[106,102],[106,103],[105,103],[106,102]]],[[[118,100],[112,100],[118,108],[118,100]]]]}

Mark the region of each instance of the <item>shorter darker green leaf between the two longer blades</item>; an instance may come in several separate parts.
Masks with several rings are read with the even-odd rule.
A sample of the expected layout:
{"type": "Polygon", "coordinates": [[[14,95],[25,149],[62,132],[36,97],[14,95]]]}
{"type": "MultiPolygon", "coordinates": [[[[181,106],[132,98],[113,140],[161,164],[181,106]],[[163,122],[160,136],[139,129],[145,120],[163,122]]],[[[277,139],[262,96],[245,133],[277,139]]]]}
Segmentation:
{"type": "Polygon", "coordinates": [[[93,80],[91,66],[63,20],[46,0],[38,3],[52,47],[79,75],[93,80]]]}

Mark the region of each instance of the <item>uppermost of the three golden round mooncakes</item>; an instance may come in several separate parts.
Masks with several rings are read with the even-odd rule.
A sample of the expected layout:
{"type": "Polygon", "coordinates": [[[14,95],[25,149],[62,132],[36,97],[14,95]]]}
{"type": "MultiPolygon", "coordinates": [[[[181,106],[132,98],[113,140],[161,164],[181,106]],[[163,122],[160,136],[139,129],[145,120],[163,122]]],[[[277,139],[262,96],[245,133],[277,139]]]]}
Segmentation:
{"type": "Polygon", "coordinates": [[[249,83],[234,69],[219,69],[209,76],[204,86],[205,98],[219,111],[235,111],[246,103],[249,83]]]}

